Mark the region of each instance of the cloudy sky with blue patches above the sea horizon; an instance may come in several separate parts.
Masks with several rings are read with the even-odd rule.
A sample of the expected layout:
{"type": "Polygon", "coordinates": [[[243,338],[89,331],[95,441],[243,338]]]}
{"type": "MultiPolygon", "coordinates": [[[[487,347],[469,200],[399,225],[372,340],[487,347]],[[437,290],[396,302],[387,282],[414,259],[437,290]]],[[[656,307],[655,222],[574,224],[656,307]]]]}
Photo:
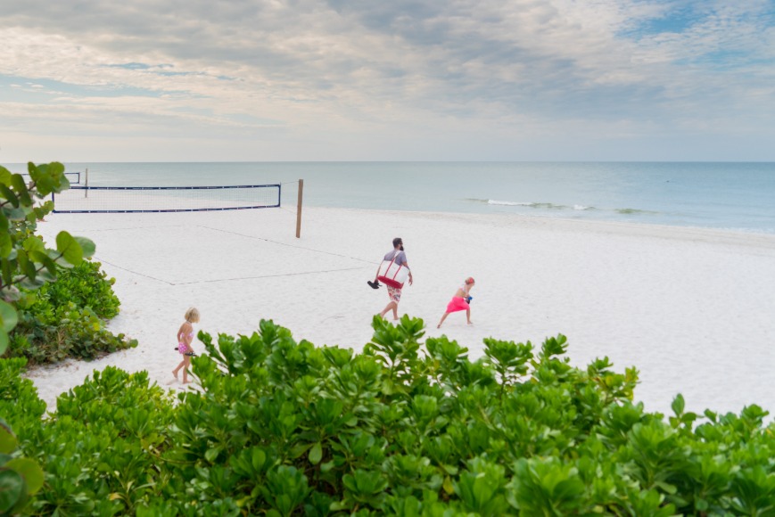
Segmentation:
{"type": "Polygon", "coordinates": [[[0,163],[775,161],[775,0],[0,0],[0,163]]]}

